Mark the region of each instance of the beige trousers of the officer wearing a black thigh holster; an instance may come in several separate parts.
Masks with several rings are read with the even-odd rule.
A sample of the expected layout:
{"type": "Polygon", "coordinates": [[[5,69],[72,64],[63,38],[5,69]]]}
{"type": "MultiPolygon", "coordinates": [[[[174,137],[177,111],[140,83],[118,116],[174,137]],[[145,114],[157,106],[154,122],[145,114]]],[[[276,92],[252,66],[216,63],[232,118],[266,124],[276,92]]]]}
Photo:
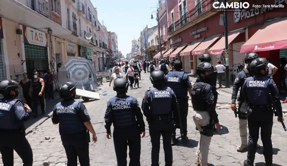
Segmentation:
{"type": "MultiPolygon", "coordinates": [[[[207,126],[209,124],[210,117],[207,111],[193,110],[192,118],[199,131],[202,131],[201,126],[207,126]]],[[[207,137],[203,134],[200,134],[200,139],[196,150],[196,159],[199,159],[200,166],[207,166],[208,151],[211,138],[212,137],[207,137]]]]}

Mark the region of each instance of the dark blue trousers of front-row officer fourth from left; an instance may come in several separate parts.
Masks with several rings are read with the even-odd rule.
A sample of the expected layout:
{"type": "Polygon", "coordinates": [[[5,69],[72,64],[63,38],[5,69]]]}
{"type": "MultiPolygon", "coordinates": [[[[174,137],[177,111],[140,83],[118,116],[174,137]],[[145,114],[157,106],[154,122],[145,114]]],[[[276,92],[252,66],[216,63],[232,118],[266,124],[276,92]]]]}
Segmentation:
{"type": "Polygon", "coordinates": [[[165,166],[171,166],[173,161],[171,134],[173,132],[173,121],[151,120],[149,132],[151,136],[151,166],[159,166],[160,136],[162,135],[165,166]]]}

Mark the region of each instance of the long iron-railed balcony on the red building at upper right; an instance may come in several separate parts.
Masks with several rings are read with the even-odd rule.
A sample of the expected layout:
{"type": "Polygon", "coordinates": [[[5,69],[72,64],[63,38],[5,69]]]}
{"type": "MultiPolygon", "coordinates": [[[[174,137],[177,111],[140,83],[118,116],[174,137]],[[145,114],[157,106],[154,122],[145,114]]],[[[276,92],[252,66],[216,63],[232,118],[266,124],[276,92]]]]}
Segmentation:
{"type": "MultiPolygon", "coordinates": [[[[222,2],[223,0],[200,0],[197,2],[196,6],[194,6],[191,10],[185,13],[179,20],[175,21],[168,27],[168,35],[173,31],[181,28],[188,22],[193,22],[201,18],[202,13],[206,12],[216,12],[216,9],[212,7],[213,2],[218,1],[222,2]]],[[[230,1],[230,0],[227,0],[230,1]]]]}

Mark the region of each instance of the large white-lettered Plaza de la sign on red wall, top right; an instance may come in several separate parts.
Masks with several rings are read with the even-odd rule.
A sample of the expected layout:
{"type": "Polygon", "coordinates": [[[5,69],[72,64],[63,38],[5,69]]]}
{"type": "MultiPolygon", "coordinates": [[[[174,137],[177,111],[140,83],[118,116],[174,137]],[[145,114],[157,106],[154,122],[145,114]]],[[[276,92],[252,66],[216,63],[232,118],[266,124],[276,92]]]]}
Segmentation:
{"type": "Polygon", "coordinates": [[[235,9],[234,14],[233,14],[234,23],[253,17],[260,13],[272,11],[273,9],[278,9],[278,8],[283,9],[285,5],[287,5],[286,0],[274,0],[274,4],[270,4],[270,3],[260,4],[260,5],[258,4],[258,5],[252,5],[251,9],[242,9],[242,10],[239,8],[235,9]]]}

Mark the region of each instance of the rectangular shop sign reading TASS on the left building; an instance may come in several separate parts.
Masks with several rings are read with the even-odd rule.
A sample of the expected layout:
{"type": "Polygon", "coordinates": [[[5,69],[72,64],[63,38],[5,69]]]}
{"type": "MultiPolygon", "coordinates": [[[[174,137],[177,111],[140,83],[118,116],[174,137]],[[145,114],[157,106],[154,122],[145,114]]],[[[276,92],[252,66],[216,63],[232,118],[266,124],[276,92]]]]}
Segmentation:
{"type": "Polygon", "coordinates": [[[24,43],[48,47],[48,34],[33,28],[23,26],[24,43]]]}

